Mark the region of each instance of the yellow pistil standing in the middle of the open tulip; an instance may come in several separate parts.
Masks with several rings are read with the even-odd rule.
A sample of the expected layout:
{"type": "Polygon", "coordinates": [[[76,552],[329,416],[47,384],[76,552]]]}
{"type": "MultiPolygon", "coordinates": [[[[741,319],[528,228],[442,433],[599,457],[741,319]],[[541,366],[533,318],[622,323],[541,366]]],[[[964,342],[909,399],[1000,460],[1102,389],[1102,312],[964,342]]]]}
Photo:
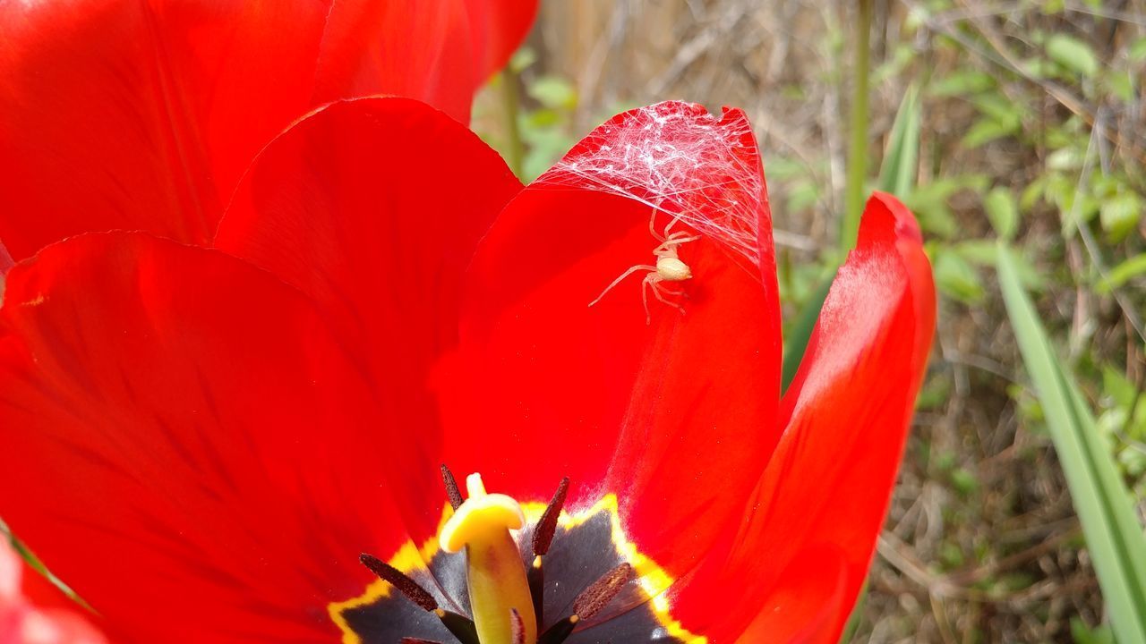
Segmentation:
{"type": "Polygon", "coordinates": [[[441,549],[465,548],[470,607],[481,644],[512,644],[511,610],[525,625],[525,644],[537,642],[533,597],[511,529],[525,526],[521,505],[504,494],[486,494],[480,474],[465,479],[469,498],[446,521],[441,549]]]}

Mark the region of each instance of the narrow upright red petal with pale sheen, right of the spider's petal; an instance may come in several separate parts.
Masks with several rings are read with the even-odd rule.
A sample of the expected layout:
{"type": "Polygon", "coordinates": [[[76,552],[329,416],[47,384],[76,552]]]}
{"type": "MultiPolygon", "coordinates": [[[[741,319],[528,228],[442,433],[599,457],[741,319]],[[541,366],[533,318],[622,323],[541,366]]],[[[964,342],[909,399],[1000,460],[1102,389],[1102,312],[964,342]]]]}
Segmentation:
{"type": "Polygon", "coordinates": [[[903,204],[884,194],[868,202],[856,250],[782,402],[787,427],[748,500],[746,526],[730,557],[677,597],[686,627],[724,642],[754,620],[752,633],[770,641],[838,639],[887,512],[934,332],[920,244],[903,204]],[[809,588],[808,579],[819,581],[809,588]],[[745,580],[749,592],[730,591],[745,580]],[[817,595],[795,600],[792,589],[817,595]],[[823,614],[825,606],[835,608],[823,614]],[[809,623],[822,628],[808,633],[809,623]]]}

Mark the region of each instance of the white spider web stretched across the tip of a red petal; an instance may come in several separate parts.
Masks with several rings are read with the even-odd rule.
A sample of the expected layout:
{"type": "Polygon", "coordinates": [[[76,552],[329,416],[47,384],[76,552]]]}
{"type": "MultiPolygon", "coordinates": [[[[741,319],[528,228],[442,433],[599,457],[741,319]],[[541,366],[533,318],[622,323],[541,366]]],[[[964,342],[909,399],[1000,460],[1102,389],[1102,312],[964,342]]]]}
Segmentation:
{"type": "Polygon", "coordinates": [[[747,259],[754,273],[760,266],[768,197],[752,126],[740,110],[725,108],[717,117],[702,105],[667,101],[623,112],[537,184],[638,201],[747,259]]]}

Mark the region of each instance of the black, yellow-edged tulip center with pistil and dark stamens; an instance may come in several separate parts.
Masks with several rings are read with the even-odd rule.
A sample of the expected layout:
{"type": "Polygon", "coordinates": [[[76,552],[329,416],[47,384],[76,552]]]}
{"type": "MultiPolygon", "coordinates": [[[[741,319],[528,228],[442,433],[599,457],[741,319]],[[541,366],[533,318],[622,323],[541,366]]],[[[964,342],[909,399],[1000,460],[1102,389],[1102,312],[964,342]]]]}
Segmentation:
{"type": "Polygon", "coordinates": [[[525,509],[479,474],[465,500],[445,465],[442,480],[437,537],[390,563],[362,555],[380,586],[329,606],[344,644],[704,643],[668,615],[658,595],[672,579],[627,541],[615,496],[570,516],[567,478],[525,509]]]}

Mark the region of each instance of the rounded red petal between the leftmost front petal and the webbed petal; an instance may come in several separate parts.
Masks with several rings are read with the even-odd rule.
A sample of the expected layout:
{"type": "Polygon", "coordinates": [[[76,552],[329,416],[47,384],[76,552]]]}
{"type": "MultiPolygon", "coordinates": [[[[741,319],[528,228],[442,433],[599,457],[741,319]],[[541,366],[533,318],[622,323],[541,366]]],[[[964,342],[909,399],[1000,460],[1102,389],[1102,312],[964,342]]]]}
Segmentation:
{"type": "MultiPolygon", "coordinates": [[[[438,402],[426,384],[457,344],[461,280],[478,239],[520,189],[496,152],[444,113],[360,99],[275,139],[220,226],[217,246],[306,293],[355,348],[382,405],[409,416],[418,449],[386,468],[395,485],[439,485],[438,402]]],[[[425,511],[416,496],[399,501],[425,511]]]]}

